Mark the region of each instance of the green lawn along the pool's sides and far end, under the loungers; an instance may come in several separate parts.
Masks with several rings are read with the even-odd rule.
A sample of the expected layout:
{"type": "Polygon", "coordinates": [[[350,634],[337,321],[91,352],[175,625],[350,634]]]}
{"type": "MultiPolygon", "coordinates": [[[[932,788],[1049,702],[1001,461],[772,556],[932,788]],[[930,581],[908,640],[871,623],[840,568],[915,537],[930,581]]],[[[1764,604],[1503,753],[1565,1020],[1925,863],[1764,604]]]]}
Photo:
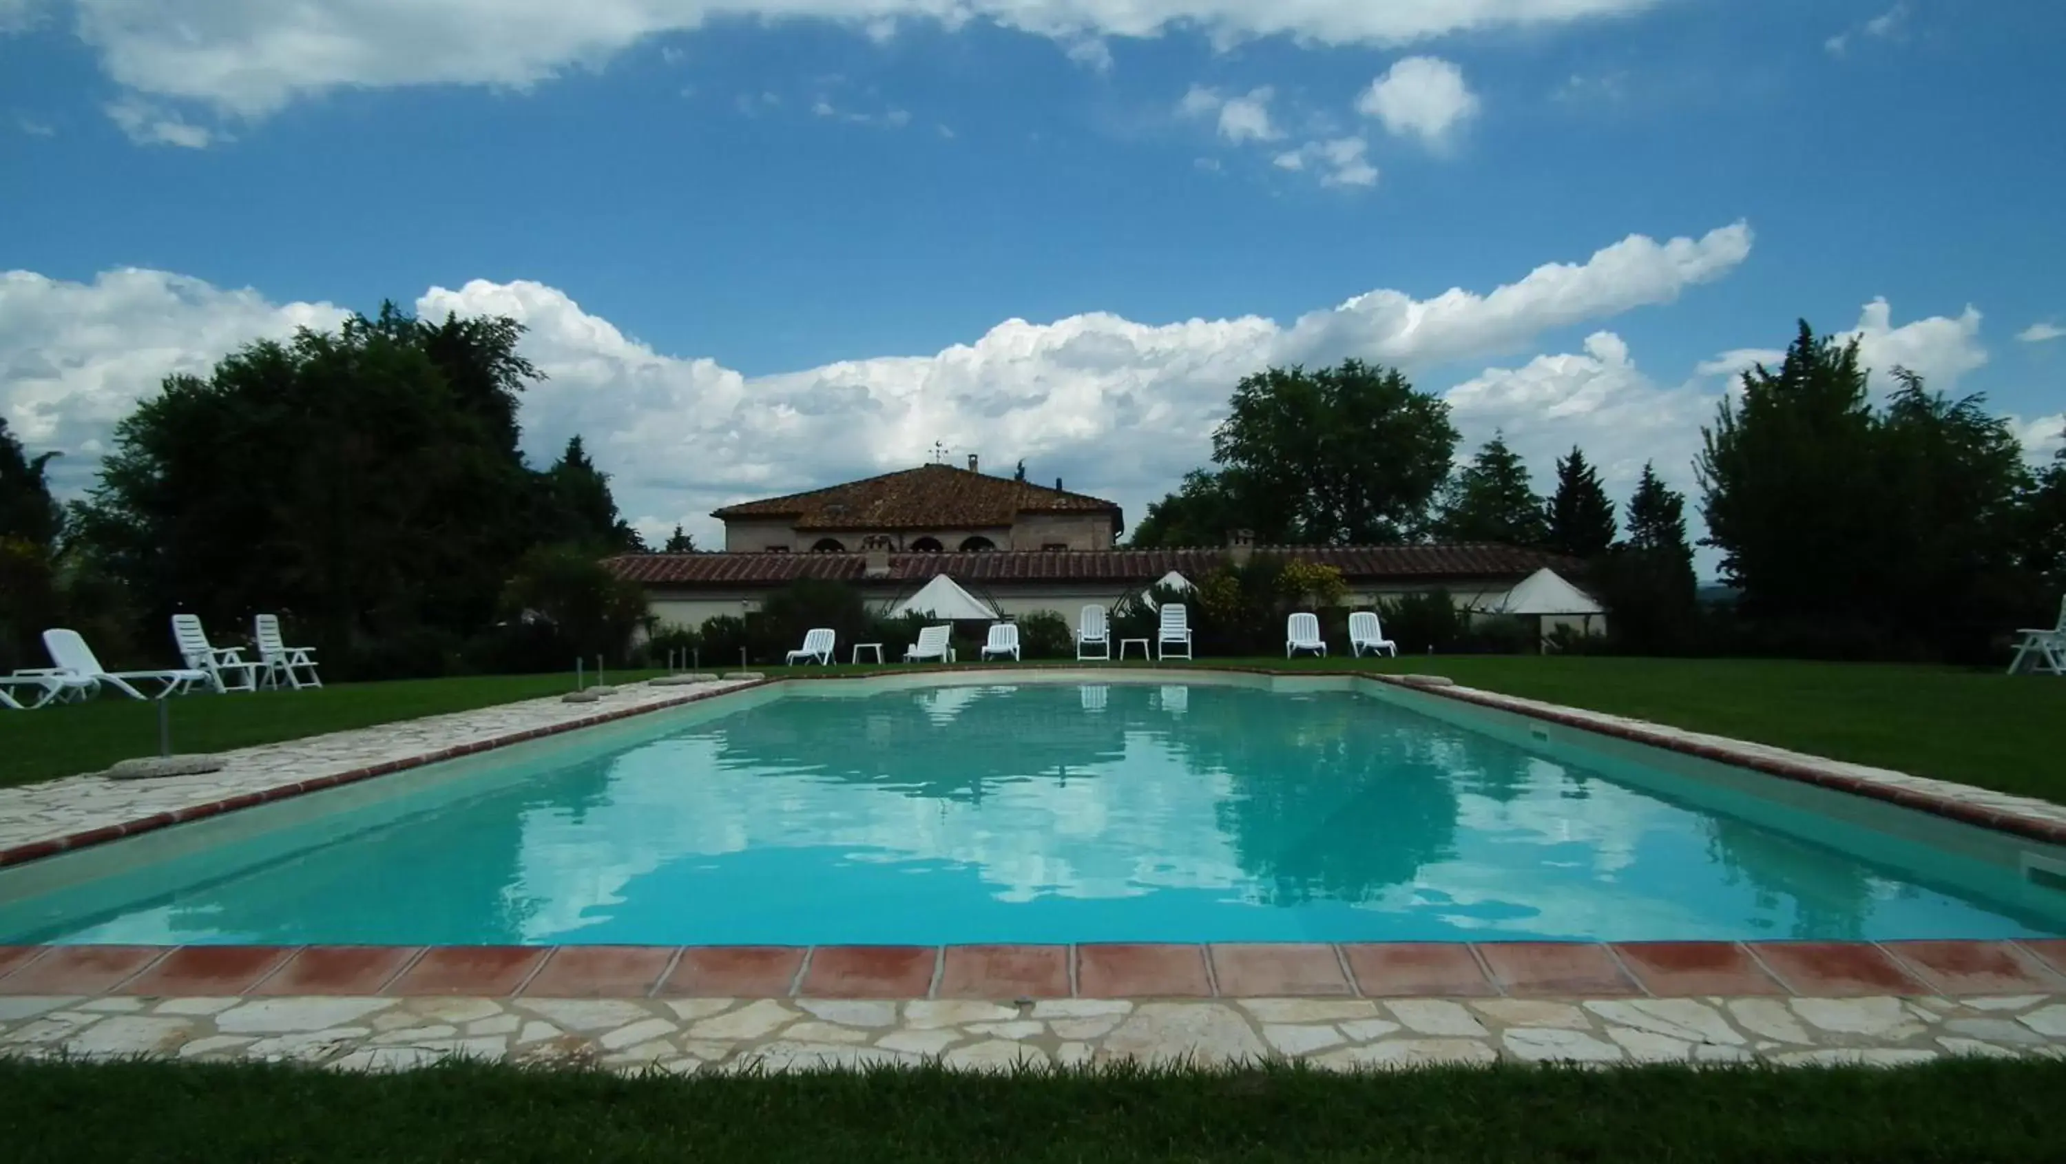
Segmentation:
{"type": "MultiPolygon", "coordinates": [[[[1295,664],[1200,660],[1200,666],[1213,662],[1446,674],[1488,691],[2066,802],[2066,765],[2058,759],[2066,682],[2049,676],[1787,660],[1514,655],[1295,664]]],[[[1124,666],[1145,664],[1132,660],[1124,666]]],[[[878,668],[833,670],[872,674],[878,668]]],[[[636,680],[643,674],[614,672],[612,678],[636,680]]],[[[176,751],[221,751],[533,699],[570,686],[570,676],[545,674],[196,695],[171,701],[171,734],[176,751]]],[[[155,751],[157,709],[147,703],[101,699],[0,713],[0,786],[97,771],[155,751]]]]}

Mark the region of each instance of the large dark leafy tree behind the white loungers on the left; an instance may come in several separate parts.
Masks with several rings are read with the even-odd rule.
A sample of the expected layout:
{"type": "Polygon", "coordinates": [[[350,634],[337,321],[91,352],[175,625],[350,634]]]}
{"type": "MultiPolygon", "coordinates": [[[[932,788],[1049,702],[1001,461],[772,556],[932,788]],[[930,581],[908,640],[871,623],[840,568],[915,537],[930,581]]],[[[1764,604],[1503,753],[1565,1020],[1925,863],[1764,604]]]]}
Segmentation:
{"type": "MultiPolygon", "coordinates": [[[[147,637],[174,610],[225,633],[281,612],[349,670],[386,639],[477,633],[574,478],[516,449],[516,393],[537,376],[521,333],[384,304],[171,376],[118,426],[81,538],[147,637]]],[[[603,490],[583,496],[614,521],[603,490]]]]}

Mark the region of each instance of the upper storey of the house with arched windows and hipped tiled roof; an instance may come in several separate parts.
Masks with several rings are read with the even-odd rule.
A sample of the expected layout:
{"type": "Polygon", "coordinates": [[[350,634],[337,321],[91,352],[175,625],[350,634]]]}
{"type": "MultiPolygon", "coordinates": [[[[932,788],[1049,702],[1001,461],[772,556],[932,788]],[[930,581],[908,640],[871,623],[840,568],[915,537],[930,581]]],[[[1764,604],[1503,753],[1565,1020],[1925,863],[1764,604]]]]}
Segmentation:
{"type": "Polygon", "coordinates": [[[731,554],[1109,550],[1120,507],[969,467],[919,465],[843,486],[727,504],[731,554]]]}

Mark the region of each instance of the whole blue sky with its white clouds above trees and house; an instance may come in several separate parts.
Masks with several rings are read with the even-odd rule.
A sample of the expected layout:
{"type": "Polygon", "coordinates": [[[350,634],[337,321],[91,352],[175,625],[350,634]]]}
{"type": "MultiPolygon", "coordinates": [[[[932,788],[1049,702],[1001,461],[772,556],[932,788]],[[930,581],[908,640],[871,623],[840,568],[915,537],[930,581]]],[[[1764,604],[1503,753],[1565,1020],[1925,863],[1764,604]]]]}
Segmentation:
{"type": "Polygon", "coordinates": [[[1797,316],[2060,440],[2041,0],[0,0],[0,416],[66,486],[167,370],[382,298],[525,318],[527,445],[585,432],[647,529],[934,440],[1138,515],[1233,380],[1341,356],[1539,478],[1578,442],[1616,492],[1651,457],[1690,486],[1729,370],[1797,316]]]}

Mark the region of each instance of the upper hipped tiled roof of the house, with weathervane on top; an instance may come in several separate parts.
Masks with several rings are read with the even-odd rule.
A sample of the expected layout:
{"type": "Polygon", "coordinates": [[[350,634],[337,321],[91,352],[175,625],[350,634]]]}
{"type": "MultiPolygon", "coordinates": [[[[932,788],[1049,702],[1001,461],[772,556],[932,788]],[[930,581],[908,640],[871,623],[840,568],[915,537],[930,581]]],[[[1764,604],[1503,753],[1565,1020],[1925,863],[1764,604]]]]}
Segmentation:
{"type": "Polygon", "coordinates": [[[797,529],[994,529],[1014,523],[1021,513],[1109,513],[1112,525],[1120,525],[1120,507],[1109,500],[954,465],[919,465],[843,486],[746,500],[711,517],[787,517],[797,529]]]}

